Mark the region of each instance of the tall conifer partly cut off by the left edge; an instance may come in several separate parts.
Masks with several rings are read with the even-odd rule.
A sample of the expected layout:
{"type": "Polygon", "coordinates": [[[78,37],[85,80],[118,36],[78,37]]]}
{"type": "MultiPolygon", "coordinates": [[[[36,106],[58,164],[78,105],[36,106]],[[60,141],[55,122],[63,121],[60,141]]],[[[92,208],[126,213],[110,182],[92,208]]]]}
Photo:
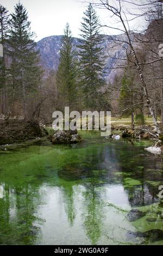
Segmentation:
{"type": "Polygon", "coordinates": [[[3,5],[0,5],[0,44],[2,44],[2,53],[3,56],[0,58],[0,89],[1,89],[1,108],[2,108],[2,114],[5,114],[6,112],[6,90],[7,90],[7,84],[6,84],[6,43],[7,43],[7,35],[8,35],[8,29],[9,29],[9,13],[8,10],[3,7],[3,5]]]}

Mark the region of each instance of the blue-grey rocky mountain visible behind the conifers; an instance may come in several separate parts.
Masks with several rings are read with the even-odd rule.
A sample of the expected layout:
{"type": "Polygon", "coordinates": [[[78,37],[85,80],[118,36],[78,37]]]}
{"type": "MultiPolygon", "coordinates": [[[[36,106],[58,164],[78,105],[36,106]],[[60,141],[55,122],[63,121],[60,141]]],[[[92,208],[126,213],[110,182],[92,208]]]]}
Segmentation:
{"type": "MultiPolygon", "coordinates": [[[[57,71],[60,57],[62,35],[52,35],[41,39],[37,42],[36,48],[40,51],[41,65],[45,70],[45,77],[51,70],[57,71]]],[[[117,44],[117,41],[125,40],[126,35],[104,35],[103,48],[105,59],[105,74],[104,77],[107,82],[114,80],[115,75],[122,72],[121,69],[112,69],[117,65],[122,65],[125,62],[123,60],[126,57],[125,43],[117,44]]],[[[79,45],[79,38],[74,38],[74,46],[79,45]]]]}

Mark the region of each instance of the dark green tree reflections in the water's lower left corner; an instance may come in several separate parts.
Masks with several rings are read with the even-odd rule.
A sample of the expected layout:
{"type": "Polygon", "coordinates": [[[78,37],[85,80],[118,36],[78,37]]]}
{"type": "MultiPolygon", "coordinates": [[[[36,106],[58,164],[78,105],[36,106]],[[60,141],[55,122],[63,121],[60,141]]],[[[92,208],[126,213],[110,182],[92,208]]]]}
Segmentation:
{"type": "Polygon", "coordinates": [[[10,187],[8,183],[1,186],[4,191],[0,200],[1,243],[32,245],[40,233],[35,223],[42,223],[36,214],[40,198],[38,188],[30,185],[10,187]]]}

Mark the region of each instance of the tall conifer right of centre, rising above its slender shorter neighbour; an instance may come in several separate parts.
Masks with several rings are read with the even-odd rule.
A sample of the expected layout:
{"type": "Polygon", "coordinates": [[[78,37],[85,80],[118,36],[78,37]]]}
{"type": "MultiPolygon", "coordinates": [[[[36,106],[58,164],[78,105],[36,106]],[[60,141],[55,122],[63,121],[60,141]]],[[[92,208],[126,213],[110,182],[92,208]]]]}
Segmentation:
{"type": "Polygon", "coordinates": [[[79,45],[80,83],[86,106],[95,108],[100,101],[98,91],[105,84],[103,79],[104,55],[101,46],[103,36],[99,34],[101,25],[91,3],[84,15],[80,29],[82,40],[79,45]]]}

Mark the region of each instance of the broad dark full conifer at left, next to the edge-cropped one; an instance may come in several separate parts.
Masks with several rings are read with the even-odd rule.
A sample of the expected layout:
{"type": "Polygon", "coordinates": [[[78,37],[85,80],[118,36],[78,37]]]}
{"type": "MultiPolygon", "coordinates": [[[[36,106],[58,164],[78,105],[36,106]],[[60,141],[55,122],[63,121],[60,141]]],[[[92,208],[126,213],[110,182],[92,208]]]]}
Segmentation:
{"type": "Polygon", "coordinates": [[[30,98],[34,97],[40,84],[41,70],[39,52],[35,50],[34,33],[30,30],[26,8],[18,2],[15,13],[11,14],[11,31],[9,36],[10,57],[12,64],[10,74],[15,100],[22,99],[24,118],[27,118],[30,98]]]}

